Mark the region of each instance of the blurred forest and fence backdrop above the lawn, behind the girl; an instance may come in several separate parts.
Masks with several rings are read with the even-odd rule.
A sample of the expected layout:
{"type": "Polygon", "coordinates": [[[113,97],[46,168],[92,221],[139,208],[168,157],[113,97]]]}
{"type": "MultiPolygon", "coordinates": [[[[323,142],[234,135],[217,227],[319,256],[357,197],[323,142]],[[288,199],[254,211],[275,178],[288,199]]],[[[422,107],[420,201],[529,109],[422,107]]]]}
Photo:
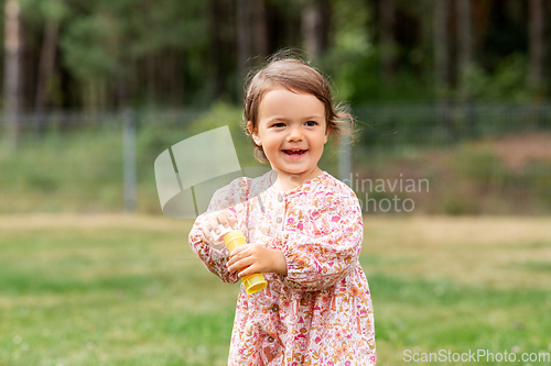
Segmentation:
{"type": "Polygon", "coordinates": [[[154,158],[218,125],[258,165],[239,127],[244,79],[281,48],[323,70],[357,119],[350,173],[337,146],[324,169],[429,179],[429,193],[398,192],[419,213],[551,212],[549,1],[1,4],[0,212],[160,213],[154,158]]]}

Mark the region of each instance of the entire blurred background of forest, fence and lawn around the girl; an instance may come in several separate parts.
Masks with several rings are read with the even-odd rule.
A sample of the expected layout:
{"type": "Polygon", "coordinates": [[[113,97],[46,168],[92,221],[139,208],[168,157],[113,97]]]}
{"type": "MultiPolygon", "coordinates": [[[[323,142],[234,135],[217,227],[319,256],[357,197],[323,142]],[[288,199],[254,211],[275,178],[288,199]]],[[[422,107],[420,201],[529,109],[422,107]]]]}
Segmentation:
{"type": "Polygon", "coordinates": [[[238,289],[162,215],[153,162],[229,125],[262,166],[244,80],[282,48],[356,120],[321,167],[363,204],[379,364],[551,352],[551,1],[0,9],[0,365],[226,364],[238,289]]]}

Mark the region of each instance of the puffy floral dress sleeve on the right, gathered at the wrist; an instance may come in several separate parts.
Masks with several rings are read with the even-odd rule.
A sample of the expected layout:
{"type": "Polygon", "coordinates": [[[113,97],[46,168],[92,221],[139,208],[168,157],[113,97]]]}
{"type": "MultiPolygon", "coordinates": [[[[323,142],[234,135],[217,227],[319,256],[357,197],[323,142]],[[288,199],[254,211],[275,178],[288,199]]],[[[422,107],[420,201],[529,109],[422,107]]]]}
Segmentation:
{"type": "Polygon", "coordinates": [[[316,195],[309,210],[306,231],[281,231],[274,247],[287,259],[289,287],[302,291],[321,290],[344,279],[357,265],[364,224],[358,199],[352,190],[316,195]]]}

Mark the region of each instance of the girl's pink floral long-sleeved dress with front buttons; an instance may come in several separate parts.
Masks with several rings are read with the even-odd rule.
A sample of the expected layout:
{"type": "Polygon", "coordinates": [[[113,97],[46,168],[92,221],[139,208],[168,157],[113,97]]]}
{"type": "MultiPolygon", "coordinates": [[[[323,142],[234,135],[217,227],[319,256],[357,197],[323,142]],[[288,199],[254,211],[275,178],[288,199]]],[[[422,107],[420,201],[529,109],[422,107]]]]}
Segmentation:
{"type": "Polygon", "coordinates": [[[239,278],[226,268],[228,251],[203,241],[209,212],[231,210],[247,243],[281,249],[287,259],[285,276],[263,274],[266,289],[248,295],[241,285],[228,365],[375,365],[356,195],[326,171],[278,191],[272,174],[218,189],[190,233],[193,251],[225,282],[239,278]]]}

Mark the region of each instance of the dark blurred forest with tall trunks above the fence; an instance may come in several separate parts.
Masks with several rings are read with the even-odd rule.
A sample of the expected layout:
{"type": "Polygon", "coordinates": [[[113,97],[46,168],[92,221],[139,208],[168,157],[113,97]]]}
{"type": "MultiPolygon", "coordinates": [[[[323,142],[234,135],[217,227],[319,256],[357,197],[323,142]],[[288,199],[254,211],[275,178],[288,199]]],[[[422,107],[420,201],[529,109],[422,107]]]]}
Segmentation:
{"type": "Polygon", "coordinates": [[[307,51],[353,104],[549,98],[545,0],[2,3],[21,110],[238,104],[282,47],[307,51]]]}

